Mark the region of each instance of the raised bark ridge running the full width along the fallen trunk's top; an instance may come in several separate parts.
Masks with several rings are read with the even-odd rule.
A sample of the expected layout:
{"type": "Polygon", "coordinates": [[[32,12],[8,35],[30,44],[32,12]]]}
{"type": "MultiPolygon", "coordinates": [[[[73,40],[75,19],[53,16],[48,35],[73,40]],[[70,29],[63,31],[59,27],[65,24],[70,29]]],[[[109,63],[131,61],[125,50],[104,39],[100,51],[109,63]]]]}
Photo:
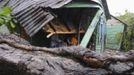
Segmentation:
{"type": "Polygon", "coordinates": [[[12,47],[26,51],[43,51],[61,56],[72,56],[74,58],[82,60],[83,62],[87,63],[92,67],[102,67],[106,65],[107,62],[112,61],[121,61],[121,62],[134,61],[134,51],[129,51],[122,55],[107,56],[104,53],[102,55],[89,49],[82,48],[80,46],[60,47],[60,48],[37,47],[32,45],[24,45],[16,43],[14,40],[5,39],[2,37],[0,38],[0,43],[5,43],[12,47]]]}

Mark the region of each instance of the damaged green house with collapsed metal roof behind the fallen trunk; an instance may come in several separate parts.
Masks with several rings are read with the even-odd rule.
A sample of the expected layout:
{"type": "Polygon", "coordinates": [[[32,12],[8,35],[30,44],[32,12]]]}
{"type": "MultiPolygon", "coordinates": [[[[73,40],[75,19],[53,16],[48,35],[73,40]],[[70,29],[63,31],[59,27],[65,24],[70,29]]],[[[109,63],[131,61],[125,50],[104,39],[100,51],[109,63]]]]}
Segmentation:
{"type": "Polygon", "coordinates": [[[3,6],[13,9],[20,35],[33,45],[104,50],[106,0],[0,0],[3,6]]]}

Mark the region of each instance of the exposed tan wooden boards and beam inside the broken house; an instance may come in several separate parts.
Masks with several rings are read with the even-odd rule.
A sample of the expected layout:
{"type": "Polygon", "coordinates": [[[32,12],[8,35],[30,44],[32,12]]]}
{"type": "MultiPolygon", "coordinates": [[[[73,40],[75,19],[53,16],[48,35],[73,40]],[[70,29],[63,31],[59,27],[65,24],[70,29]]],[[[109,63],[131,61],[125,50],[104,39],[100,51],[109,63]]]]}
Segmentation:
{"type": "MultiPolygon", "coordinates": [[[[69,25],[71,26],[71,30],[68,30],[68,26],[62,23],[54,23],[54,22],[50,22],[51,25],[54,27],[54,29],[50,26],[50,24],[45,25],[43,27],[43,30],[48,34],[48,36],[52,36],[54,34],[77,34],[77,29],[74,27],[74,25],[69,25]]],[[[83,28],[80,29],[80,33],[84,33],[85,30],[83,28]]]]}

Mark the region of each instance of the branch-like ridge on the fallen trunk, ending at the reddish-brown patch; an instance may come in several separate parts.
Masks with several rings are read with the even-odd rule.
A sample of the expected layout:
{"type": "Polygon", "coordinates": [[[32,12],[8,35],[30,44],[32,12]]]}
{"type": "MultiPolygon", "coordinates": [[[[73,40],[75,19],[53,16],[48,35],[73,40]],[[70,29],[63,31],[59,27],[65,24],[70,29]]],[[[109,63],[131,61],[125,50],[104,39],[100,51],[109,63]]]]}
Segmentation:
{"type": "Polygon", "coordinates": [[[61,56],[72,56],[83,62],[88,63],[92,67],[101,67],[103,65],[103,58],[100,54],[95,53],[94,51],[73,46],[73,47],[61,47],[61,48],[46,48],[46,47],[36,47],[32,45],[23,45],[16,43],[10,39],[0,39],[0,43],[8,44],[12,47],[26,50],[26,51],[43,51],[47,53],[52,53],[61,56]]]}

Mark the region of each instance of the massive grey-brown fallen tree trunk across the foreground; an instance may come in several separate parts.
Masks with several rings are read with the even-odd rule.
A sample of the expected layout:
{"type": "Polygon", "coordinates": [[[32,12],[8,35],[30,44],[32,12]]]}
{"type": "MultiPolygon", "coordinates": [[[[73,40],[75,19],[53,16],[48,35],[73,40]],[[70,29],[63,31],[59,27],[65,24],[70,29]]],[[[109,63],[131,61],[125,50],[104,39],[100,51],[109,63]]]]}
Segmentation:
{"type": "MultiPolygon", "coordinates": [[[[47,75],[56,75],[55,72],[57,71],[57,75],[68,75],[68,73],[63,71],[69,71],[72,68],[75,68],[74,70],[79,71],[79,73],[69,71],[69,73],[73,73],[71,75],[92,75],[89,73],[94,72],[95,74],[93,75],[96,75],[100,71],[102,71],[103,75],[133,73],[133,50],[114,55],[106,52],[98,54],[79,46],[61,48],[36,47],[25,42],[25,44],[19,43],[13,40],[14,38],[9,39],[8,37],[6,36],[5,38],[5,35],[0,36],[0,64],[5,64],[6,66],[9,64],[14,65],[9,67],[16,69],[13,72],[21,71],[22,73],[19,72],[19,75],[28,75],[30,73],[31,75],[34,73],[35,75],[46,75],[48,72],[49,74],[47,75]],[[86,68],[90,72],[85,72],[87,71],[86,68]],[[46,70],[44,71],[44,69],[46,70]],[[83,70],[80,71],[81,69],[83,70]]],[[[6,68],[3,71],[5,70],[6,68]]],[[[1,71],[0,69],[0,74],[1,71]]]]}

